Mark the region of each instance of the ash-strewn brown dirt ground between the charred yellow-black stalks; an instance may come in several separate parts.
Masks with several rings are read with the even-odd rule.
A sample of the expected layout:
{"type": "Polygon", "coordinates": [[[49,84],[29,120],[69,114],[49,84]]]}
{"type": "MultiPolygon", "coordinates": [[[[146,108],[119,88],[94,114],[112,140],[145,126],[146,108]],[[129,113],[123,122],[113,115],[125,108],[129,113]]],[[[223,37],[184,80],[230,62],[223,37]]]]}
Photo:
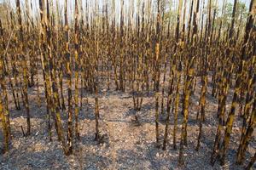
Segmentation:
{"type": "MultiPolygon", "coordinates": [[[[173,116],[171,116],[167,150],[158,149],[155,147],[154,95],[149,94],[145,97],[142,111],[136,113],[133,109],[131,92],[115,91],[114,87],[109,91],[102,87],[100,92],[100,131],[104,136],[103,142],[98,144],[94,141],[95,100],[92,94],[86,94],[84,95],[83,109],[79,111],[81,139],[74,140],[73,155],[64,156],[61,144],[56,139],[54,127],[53,141],[49,142],[42,83],[40,84],[41,106],[36,102],[36,88],[29,89],[32,116],[32,135],[29,137],[23,137],[20,128],[23,126],[26,129],[26,112],[23,107],[21,111],[16,111],[12,97],[9,96],[13,139],[9,152],[0,155],[0,169],[243,169],[243,166],[235,164],[236,150],[241,135],[241,118],[238,117],[236,117],[231,134],[226,165],[220,167],[218,161],[214,167],[210,165],[212,145],[218,123],[216,117],[218,100],[211,95],[211,84],[207,88],[207,116],[206,122],[203,123],[201,148],[198,152],[195,151],[199,129],[195,119],[198,110],[196,105],[198,105],[201,89],[199,80],[200,78],[197,81],[195,94],[190,99],[188,146],[184,150],[185,165],[183,167],[177,166],[178,150],[172,149],[173,116]],[[85,96],[88,97],[88,104],[85,103],[85,96]],[[138,116],[139,123],[133,121],[135,114],[138,116]]],[[[230,111],[231,99],[232,91],[230,91],[227,111],[230,111]]],[[[180,102],[181,107],[182,103],[180,102]]],[[[61,113],[61,116],[63,122],[67,122],[67,112],[61,113]]],[[[165,128],[164,118],[165,116],[160,116],[161,144],[165,128]]],[[[182,116],[179,114],[177,148],[179,148],[181,122],[182,116]]],[[[2,140],[3,134],[0,133],[0,141],[2,140]]],[[[253,141],[249,144],[249,150],[247,150],[245,164],[249,161],[250,156],[253,156],[256,148],[255,141],[254,135],[253,141]]],[[[3,145],[0,146],[3,147],[3,145]]],[[[254,168],[256,168],[255,165],[254,168]]]]}

